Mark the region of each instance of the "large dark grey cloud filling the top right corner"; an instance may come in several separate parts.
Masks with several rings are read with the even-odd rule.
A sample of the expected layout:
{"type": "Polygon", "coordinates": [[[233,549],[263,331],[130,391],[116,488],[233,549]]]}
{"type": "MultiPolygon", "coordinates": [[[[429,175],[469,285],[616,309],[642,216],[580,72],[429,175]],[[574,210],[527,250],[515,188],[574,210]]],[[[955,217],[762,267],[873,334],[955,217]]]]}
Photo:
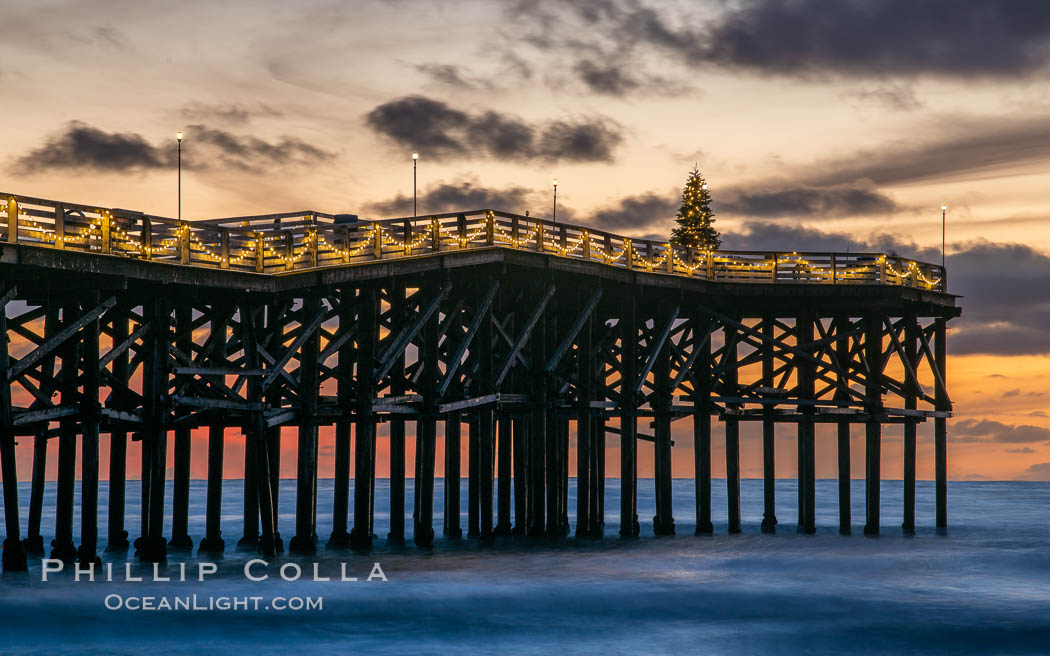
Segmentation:
{"type": "Polygon", "coordinates": [[[1050,5],[1040,0],[743,0],[702,14],[642,0],[537,4],[517,3],[512,16],[547,41],[584,33],[688,66],[769,75],[1017,77],[1050,57],[1050,5]]]}

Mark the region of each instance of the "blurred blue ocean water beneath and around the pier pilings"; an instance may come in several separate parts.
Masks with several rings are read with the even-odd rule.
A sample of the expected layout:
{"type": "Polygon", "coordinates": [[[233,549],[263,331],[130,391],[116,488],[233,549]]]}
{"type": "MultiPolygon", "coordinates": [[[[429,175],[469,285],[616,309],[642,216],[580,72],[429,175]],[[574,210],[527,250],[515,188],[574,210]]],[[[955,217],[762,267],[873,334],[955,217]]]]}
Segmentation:
{"type": "MultiPolygon", "coordinates": [[[[411,484],[407,499],[412,500],[411,484]]],[[[190,533],[204,533],[205,484],[193,482],[190,533]]],[[[901,483],[883,482],[882,534],[865,537],[863,482],[854,481],[854,534],[838,534],[837,487],[817,482],[817,534],[796,532],[794,481],[777,482],[775,535],[759,532],[760,481],[741,482],[743,533],[726,532],[724,483],[713,484],[715,534],[693,534],[693,485],[674,482],[678,534],[652,536],[653,482],[639,481],[643,536],[617,537],[618,481],[606,490],[603,541],[501,538],[492,546],[439,536],[433,551],[387,546],[369,555],[326,552],[331,481],[319,482],[316,557],[280,556],[244,576],[239,553],[242,483],[224,489],[227,552],[218,572],[196,580],[193,554],[172,552],[159,572],[190,580],[149,580],[152,566],[132,565],[144,583],[76,581],[69,572],[41,580],[0,579],[0,654],[762,654],[907,653],[1042,654],[1050,652],[1050,484],[957,483],[948,486],[949,529],[933,524],[931,483],[918,483],[914,536],[901,523],[901,483]],[[327,505],[326,505],[327,504],[327,505]],[[317,563],[331,581],[311,580],[317,563]],[[388,579],[363,580],[379,563],[388,579]],[[299,580],[279,578],[295,564],[299,580]],[[357,581],[337,580],[345,564],[357,581]],[[289,566],[290,567],[290,566],[289,566]],[[258,610],[107,610],[113,595],[320,597],[322,608],[258,610]]],[[[572,484],[570,484],[570,491],[572,484]]],[[[54,530],[54,485],[46,490],[45,544],[54,530]]],[[[377,481],[376,533],[388,527],[388,490],[377,481]]],[[[20,490],[23,511],[28,489],[20,490]]],[[[284,481],[280,529],[294,532],[294,481],[284,481]]],[[[466,489],[462,496],[466,499],[466,489]]],[[[106,485],[100,527],[105,534],[106,485]]],[[[138,484],[128,485],[128,528],[139,534],[138,484]]],[[[170,488],[168,491],[170,519],[170,488]]],[[[79,501],[79,490],[78,490],[79,501]]],[[[570,499],[570,511],[574,502],[570,499]]],[[[441,529],[441,482],[436,529],[441,529]]],[[[406,520],[412,530],[411,507],[406,520]]],[[[78,509],[79,516],[79,509],[78,509]]],[[[24,521],[24,520],[23,520],[24,521]]],[[[571,521],[571,517],[570,517],[571,521]]],[[[462,517],[466,528],[466,515],[462,517]]],[[[24,527],[24,524],[23,524],[24,527]]],[[[79,535],[79,526],[77,527],[79,535]]],[[[169,531],[170,532],[170,531],[169,531]]],[[[411,542],[410,542],[411,544],[411,542]]],[[[103,545],[100,545],[103,546],[103,545]]],[[[291,569],[289,570],[291,573],[291,569]]]]}

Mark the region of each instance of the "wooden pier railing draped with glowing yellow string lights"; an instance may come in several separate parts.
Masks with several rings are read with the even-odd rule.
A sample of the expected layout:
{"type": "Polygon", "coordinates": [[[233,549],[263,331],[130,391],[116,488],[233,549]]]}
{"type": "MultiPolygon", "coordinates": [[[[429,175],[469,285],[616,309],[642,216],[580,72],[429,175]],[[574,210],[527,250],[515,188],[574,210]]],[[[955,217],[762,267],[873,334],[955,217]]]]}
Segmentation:
{"type": "Polygon", "coordinates": [[[15,194],[0,199],[0,240],[9,244],[255,273],[499,247],[719,282],[947,288],[942,267],[885,253],[702,251],[496,210],[348,223],[314,211],[180,221],[15,194]]]}

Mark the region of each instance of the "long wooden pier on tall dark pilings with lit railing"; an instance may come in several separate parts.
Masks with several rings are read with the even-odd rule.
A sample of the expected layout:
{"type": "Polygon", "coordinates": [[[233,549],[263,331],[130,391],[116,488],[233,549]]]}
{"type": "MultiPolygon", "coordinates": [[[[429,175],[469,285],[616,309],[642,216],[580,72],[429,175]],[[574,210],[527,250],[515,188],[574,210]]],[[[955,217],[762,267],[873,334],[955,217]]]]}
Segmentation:
{"type": "Polygon", "coordinates": [[[284,548],[281,531],[291,531],[295,552],[314,551],[319,535],[329,548],[368,550],[376,538],[375,478],[384,474],[388,539],[411,536],[429,548],[439,425],[446,459],[439,530],[450,537],[464,529],[464,450],[468,536],[601,536],[607,445],[620,447],[620,532],[637,535],[639,440],[654,448],[653,530],[674,533],[671,426],[681,420],[692,425],[698,533],[712,531],[713,420],[726,427],[731,532],[740,530],[741,422],[761,425],[764,531],[785,520],[774,511],[777,427],[793,425],[797,435],[796,519],[799,530],[813,532],[815,424],[838,426],[839,521],[848,532],[849,438],[863,426],[864,531],[876,534],[882,427],[904,427],[903,529],[911,531],[916,427],[931,418],[936,524],[947,524],[945,340],[959,310],[940,267],[880,253],[694,252],[491,210],[379,221],[320,212],[176,221],[0,199],[6,570],[25,569],[26,553],[44,551],[50,439],[58,440],[59,480],[49,553],[98,558],[100,433],[110,437],[107,549],[129,548],[128,515],[138,514],[133,544],[154,562],[193,546],[187,514],[195,458],[208,470],[198,548],[226,548],[229,428],[246,438],[237,544],[267,554],[284,548]],[[332,517],[316,511],[320,426],[334,426],[332,517]],[[207,452],[193,453],[190,432],[203,427],[207,452]],[[298,446],[294,526],[279,526],[276,512],[280,440],[292,437],[284,428],[294,428],[298,446]],[[19,438],[34,445],[24,535],[19,438]],[[142,443],[143,494],[131,500],[138,513],[126,511],[128,440],[142,443]],[[168,440],[171,535],[163,528],[168,440]],[[377,471],[378,440],[390,441],[390,471],[377,471]]]}

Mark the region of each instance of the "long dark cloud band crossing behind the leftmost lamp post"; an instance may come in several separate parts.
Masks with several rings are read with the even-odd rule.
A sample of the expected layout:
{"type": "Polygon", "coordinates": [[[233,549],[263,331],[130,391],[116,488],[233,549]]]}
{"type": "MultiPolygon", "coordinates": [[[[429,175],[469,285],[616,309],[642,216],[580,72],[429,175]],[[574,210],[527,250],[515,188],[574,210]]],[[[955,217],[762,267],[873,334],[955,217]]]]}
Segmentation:
{"type": "MultiPolygon", "coordinates": [[[[284,166],[317,164],[332,158],[329,153],[294,136],[268,142],[191,125],[185,130],[183,167],[188,170],[215,168],[259,172],[284,166]]],[[[175,165],[174,140],[153,145],[134,132],[106,132],[80,121],[14,163],[20,173],[52,170],[147,171],[175,165]]]]}

